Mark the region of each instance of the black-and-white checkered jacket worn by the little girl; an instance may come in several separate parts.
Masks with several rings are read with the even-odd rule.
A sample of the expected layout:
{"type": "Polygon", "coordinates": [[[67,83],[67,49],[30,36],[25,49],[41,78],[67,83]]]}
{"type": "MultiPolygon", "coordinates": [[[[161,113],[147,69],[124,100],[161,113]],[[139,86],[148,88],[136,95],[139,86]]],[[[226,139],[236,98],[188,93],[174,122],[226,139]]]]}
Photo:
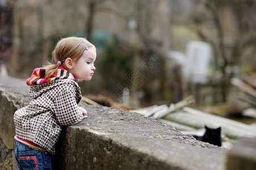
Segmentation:
{"type": "Polygon", "coordinates": [[[16,136],[36,143],[55,154],[54,145],[61,133],[61,126],[77,124],[82,120],[78,108],[81,91],[70,79],[32,85],[29,105],[14,114],[16,136]]]}

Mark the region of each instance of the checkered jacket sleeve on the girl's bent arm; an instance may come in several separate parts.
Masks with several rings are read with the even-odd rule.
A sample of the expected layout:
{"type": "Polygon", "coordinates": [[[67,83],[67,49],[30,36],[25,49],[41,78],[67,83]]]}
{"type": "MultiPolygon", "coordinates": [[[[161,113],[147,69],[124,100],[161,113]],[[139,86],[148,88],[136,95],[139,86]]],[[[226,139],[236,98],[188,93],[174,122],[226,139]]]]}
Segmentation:
{"type": "Polygon", "coordinates": [[[54,100],[57,123],[70,126],[82,121],[83,114],[78,108],[72,90],[63,90],[54,100]]]}

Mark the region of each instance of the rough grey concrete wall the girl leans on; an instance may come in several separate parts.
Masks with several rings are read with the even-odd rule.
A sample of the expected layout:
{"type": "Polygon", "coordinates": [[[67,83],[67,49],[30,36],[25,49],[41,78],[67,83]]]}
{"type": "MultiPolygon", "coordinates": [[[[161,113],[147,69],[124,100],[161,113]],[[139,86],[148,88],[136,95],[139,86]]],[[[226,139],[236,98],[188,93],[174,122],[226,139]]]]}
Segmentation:
{"type": "MultiPolygon", "coordinates": [[[[0,142],[12,152],[12,117],[28,103],[28,91],[24,80],[0,76],[0,142]]],[[[88,118],[62,131],[53,158],[56,169],[225,169],[227,151],[222,147],[196,141],[135,112],[80,105],[88,118]]]]}

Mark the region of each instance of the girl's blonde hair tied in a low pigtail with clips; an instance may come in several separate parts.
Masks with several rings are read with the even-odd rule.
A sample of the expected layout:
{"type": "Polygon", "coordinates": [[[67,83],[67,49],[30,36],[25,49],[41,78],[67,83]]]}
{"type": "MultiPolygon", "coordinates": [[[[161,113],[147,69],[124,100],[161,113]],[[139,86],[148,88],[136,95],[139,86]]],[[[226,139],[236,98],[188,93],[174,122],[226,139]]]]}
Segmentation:
{"type": "Polygon", "coordinates": [[[89,49],[95,49],[95,46],[88,40],[82,37],[67,37],[57,42],[55,49],[52,52],[52,62],[49,65],[43,66],[43,69],[47,70],[45,78],[53,75],[58,69],[58,61],[65,62],[67,58],[71,58],[77,61],[85,51],[85,48],[80,44],[85,44],[89,49]]]}

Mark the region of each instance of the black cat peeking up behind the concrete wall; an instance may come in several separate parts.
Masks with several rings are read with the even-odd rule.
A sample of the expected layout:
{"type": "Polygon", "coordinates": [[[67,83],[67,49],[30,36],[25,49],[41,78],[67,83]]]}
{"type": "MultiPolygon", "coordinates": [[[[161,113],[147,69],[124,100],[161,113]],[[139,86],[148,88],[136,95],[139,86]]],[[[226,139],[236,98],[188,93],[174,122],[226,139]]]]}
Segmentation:
{"type": "Polygon", "coordinates": [[[221,146],[221,127],[217,129],[208,128],[205,127],[205,133],[202,137],[199,137],[197,135],[193,135],[194,138],[196,138],[198,141],[208,142],[212,145],[221,146]]]}

